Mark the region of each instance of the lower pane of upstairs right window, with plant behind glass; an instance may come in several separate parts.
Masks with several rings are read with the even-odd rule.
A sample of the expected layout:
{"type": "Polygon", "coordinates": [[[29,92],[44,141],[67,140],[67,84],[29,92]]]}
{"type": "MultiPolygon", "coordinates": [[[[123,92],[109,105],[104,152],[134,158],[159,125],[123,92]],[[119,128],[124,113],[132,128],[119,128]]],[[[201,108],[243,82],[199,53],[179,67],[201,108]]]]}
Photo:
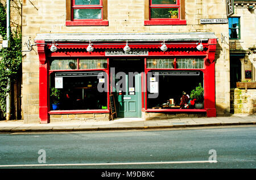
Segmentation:
{"type": "Polygon", "coordinates": [[[151,8],[151,18],[178,18],[177,8],[151,8]]]}

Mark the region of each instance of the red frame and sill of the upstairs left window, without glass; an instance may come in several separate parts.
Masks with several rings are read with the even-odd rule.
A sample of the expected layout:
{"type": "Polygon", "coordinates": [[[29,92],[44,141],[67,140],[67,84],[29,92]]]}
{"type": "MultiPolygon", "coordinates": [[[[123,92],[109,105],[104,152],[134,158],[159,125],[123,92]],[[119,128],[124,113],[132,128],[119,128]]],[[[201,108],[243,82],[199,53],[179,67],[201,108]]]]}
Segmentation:
{"type": "Polygon", "coordinates": [[[103,0],[100,1],[100,5],[75,5],[76,0],[71,0],[71,20],[66,21],[66,26],[108,26],[108,20],[104,20],[103,0]],[[74,19],[74,9],[101,9],[101,19],[74,19]]]}

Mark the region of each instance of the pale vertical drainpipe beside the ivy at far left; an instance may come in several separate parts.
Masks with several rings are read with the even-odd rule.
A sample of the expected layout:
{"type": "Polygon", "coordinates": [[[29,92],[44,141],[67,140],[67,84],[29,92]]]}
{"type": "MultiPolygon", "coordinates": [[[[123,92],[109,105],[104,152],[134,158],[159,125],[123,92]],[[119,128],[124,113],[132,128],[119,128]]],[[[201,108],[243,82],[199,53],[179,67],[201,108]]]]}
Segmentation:
{"type": "MultiPolygon", "coordinates": [[[[10,0],[6,1],[6,25],[7,25],[7,41],[10,42],[10,0]]],[[[9,70],[9,69],[7,69],[9,70]]],[[[11,78],[8,78],[7,89],[9,92],[6,96],[6,120],[11,119],[11,78]]]]}

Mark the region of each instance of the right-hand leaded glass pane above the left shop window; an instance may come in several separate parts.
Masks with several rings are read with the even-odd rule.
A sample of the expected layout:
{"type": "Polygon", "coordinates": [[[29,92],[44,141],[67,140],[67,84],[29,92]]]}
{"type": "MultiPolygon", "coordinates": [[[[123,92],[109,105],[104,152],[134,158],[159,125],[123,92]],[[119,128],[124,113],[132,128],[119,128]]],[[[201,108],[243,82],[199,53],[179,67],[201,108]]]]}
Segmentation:
{"type": "Polygon", "coordinates": [[[107,60],[79,60],[79,69],[106,69],[107,60]]]}

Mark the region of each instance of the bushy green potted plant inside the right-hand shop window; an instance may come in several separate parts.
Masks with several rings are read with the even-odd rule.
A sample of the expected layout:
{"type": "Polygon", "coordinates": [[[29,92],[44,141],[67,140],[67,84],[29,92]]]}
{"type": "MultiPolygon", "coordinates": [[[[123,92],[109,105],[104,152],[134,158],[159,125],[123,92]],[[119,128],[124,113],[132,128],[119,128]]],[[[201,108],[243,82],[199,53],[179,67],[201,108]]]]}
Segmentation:
{"type": "Polygon", "coordinates": [[[204,107],[204,88],[199,83],[195,89],[191,91],[190,98],[196,99],[195,108],[201,109],[204,107]]]}

